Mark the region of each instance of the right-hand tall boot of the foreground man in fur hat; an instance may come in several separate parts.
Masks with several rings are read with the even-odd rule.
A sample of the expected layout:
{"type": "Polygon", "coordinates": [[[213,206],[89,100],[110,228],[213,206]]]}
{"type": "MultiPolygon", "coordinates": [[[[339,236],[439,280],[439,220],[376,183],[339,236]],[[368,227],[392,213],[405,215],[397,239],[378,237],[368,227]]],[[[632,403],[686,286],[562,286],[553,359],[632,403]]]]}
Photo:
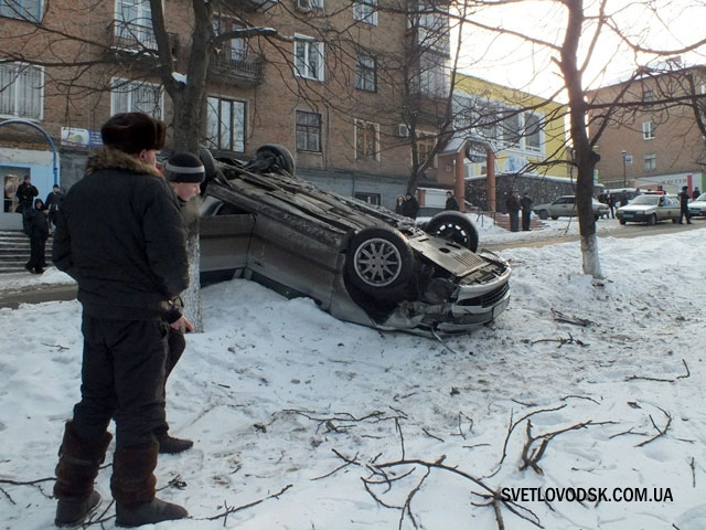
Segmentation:
{"type": "Polygon", "coordinates": [[[118,448],[113,460],[110,489],[116,500],[116,524],[140,527],[161,521],[183,519],[189,512],[179,505],[154,497],[159,445],[118,448]]]}

